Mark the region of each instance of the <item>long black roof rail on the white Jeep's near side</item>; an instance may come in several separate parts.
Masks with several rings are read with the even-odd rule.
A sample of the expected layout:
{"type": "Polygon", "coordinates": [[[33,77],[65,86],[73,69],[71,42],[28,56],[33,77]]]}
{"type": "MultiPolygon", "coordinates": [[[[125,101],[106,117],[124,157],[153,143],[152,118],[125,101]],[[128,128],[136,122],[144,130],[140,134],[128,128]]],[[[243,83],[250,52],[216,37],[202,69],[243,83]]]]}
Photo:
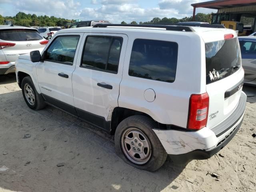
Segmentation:
{"type": "Polygon", "coordinates": [[[149,27],[149,28],[165,28],[170,31],[187,31],[194,32],[191,26],[169,26],[169,25],[148,25],[148,24],[96,24],[93,27],[108,27],[108,26],[124,26],[124,27],[149,27]]]}

